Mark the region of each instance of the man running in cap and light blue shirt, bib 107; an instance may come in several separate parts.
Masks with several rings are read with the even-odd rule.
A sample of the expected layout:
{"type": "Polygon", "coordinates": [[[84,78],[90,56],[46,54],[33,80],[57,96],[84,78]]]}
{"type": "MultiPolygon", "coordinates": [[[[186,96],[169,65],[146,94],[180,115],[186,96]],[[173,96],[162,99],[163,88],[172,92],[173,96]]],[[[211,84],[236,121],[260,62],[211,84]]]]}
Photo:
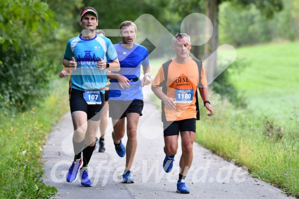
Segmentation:
{"type": "Polygon", "coordinates": [[[67,182],[77,179],[81,185],[92,186],[87,166],[95,147],[95,136],[104,106],[107,70],[119,70],[117,53],[110,39],[95,33],[97,12],[84,8],[79,24],[82,34],[71,38],[66,46],[63,65],[72,70],[70,78],[70,109],[74,126],[74,160],[67,173],[67,182]],[[107,63],[109,62],[109,64],[107,63]],[[83,156],[81,156],[83,153],[83,156]]]}

